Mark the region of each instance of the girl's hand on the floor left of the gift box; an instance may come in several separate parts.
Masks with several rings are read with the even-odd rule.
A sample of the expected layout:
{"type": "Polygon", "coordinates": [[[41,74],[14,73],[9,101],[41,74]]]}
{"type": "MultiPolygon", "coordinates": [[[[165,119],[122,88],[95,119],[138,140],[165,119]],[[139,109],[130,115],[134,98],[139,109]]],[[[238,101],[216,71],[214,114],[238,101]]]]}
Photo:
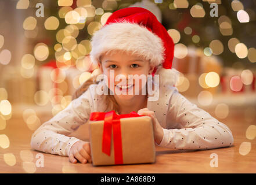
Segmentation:
{"type": "Polygon", "coordinates": [[[76,163],[77,160],[83,164],[92,162],[90,143],[82,140],[75,142],[69,151],[68,158],[72,163],[76,163]]]}

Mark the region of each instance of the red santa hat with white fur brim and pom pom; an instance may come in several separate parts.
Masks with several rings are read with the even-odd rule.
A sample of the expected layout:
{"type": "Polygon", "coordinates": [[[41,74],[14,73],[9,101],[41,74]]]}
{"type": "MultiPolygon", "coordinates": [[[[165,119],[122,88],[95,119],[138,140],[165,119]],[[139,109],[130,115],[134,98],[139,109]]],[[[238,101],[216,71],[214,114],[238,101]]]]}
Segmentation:
{"type": "Polygon", "coordinates": [[[175,86],[179,72],[172,67],[174,42],[156,16],[147,9],[129,7],[113,12],[91,38],[91,60],[98,64],[102,53],[132,51],[155,65],[152,75],[160,84],[175,86]]]}

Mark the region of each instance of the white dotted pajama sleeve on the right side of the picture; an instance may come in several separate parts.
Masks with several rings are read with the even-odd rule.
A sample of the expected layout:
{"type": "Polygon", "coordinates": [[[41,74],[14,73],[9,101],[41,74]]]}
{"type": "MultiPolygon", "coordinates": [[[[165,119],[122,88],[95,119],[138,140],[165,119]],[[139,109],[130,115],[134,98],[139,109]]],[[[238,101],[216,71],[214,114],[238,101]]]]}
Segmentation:
{"type": "Polygon", "coordinates": [[[167,120],[171,121],[171,129],[163,128],[164,136],[158,146],[200,150],[233,145],[230,129],[179,94],[176,87],[170,98],[167,120]]]}

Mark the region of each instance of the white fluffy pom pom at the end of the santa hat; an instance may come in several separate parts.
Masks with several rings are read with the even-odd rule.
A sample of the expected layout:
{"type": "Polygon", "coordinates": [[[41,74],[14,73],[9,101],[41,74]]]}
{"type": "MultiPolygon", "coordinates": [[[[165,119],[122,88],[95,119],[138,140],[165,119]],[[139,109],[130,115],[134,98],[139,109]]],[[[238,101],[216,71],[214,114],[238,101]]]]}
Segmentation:
{"type": "Polygon", "coordinates": [[[158,66],[155,75],[159,75],[159,84],[175,86],[176,82],[179,80],[179,71],[176,69],[165,69],[163,66],[158,66]]]}

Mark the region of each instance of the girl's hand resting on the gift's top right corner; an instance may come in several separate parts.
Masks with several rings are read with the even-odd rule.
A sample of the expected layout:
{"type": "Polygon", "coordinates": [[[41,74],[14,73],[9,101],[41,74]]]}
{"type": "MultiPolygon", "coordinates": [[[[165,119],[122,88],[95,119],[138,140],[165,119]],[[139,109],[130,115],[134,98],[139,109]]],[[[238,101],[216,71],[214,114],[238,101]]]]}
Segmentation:
{"type": "Polygon", "coordinates": [[[160,123],[157,121],[157,118],[154,112],[147,108],[144,108],[144,109],[140,109],[138,111],[138,114],[149,116],[152,118],[153,128],[154,128],[154,141],[157,143],[157,145],[159,145],[163,139],[164,131],[163,131],[163,127],[161,127],[160,123]]]}

